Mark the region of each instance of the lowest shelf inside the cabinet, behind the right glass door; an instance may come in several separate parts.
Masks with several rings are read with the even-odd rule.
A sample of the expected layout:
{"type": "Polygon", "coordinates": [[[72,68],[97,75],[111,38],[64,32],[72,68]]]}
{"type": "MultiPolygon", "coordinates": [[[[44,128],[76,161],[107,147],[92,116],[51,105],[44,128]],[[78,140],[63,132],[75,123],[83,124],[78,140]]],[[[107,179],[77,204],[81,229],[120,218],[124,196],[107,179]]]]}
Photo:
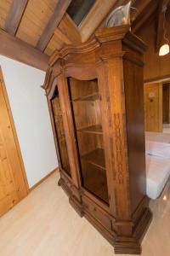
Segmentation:
{"type": "Polygon", "coordinates": [[[82,155],[82,160],[86,160],[88,163],[105,170],[105,153],[102,148],[97,148],[88,154],[82,155]]]}

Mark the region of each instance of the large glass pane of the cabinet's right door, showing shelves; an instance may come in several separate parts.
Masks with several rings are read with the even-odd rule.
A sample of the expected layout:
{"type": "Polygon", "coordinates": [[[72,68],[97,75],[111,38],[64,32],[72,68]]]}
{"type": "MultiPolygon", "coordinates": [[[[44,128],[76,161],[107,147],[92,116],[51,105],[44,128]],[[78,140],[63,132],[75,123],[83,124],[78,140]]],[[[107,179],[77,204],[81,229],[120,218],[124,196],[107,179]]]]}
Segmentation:
{"type": "Polygon", "coordinates": [[[76,127],[82,185],[108,203],[98,80],[69,79],[68,84],[76,127]]]}

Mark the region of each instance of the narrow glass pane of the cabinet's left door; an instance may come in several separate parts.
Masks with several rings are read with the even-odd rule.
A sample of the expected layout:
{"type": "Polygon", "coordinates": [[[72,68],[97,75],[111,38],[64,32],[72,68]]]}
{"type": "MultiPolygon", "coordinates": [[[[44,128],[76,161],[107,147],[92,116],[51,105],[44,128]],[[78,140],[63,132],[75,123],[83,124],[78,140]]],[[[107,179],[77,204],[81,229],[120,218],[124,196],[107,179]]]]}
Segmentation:
{"type": "Polygon", "coordinates": [[[71,176],[71,168],[69,164],[69,157],[66,148],[66,140],[65,140],[65,131],[63,125],[63,118],[59,103],[59,93],[58,91],[55,92],[55,96],[52,99],[52,108],[54,113],[54,124],[55,124],[55,131],[57,134],[58,145],[59,145],[59,156],[61,161],[61,167],[65,172],[71,176]]]}

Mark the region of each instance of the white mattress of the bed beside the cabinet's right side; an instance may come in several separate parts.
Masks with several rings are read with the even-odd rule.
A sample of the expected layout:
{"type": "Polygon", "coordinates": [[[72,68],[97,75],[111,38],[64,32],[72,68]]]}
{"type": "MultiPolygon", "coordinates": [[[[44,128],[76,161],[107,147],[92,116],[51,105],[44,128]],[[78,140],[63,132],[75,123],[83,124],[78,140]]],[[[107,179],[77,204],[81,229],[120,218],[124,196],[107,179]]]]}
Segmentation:
{"type": "Polygon", "coordinates": [[[146,194],[151,199],[161,195],[170,175],[170,158],[146,155],[146,194]]]}

